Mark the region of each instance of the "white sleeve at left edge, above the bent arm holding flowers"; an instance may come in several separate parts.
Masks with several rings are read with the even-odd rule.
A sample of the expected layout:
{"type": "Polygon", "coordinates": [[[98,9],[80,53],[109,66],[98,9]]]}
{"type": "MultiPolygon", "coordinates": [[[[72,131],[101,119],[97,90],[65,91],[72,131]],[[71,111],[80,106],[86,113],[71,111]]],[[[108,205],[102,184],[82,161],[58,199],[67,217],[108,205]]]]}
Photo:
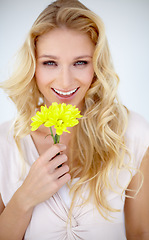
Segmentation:
{"type": "Polygon", "coordinates": [[[29,164],[23,165],[20,161],[13,133],[13,120],[0,125],[0,194],[5,206],[22,185],[22,167],[24,172],[30,169],[29,164]]]}

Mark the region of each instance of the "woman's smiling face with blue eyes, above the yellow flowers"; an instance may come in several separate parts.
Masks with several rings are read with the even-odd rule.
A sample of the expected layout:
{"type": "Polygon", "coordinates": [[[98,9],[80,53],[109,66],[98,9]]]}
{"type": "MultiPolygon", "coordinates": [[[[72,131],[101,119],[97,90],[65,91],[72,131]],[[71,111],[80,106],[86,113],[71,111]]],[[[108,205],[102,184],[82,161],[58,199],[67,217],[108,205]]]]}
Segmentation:
{"type": "Polygon", "coordinates": [[[35,77],[47,106],[64,102],[81,110],[93,80],[94,48],[87,34],[66,28],[39,37],[35,77]]]}

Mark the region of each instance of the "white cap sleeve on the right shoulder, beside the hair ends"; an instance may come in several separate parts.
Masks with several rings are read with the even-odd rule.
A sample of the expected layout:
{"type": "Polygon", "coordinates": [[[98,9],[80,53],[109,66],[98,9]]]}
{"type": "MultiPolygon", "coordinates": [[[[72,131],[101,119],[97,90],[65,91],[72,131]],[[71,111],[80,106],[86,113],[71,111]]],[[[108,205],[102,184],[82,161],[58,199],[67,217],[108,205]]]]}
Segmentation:
{"type": "MultiPolygon", "coordinates": [[[[135,112],[129,114],[126,145],[132,157],[133,167],[138,169],[149,147],[149,123],[135,112]]],[[[136,171],[133,175],[135,173],[136,171]]]]}

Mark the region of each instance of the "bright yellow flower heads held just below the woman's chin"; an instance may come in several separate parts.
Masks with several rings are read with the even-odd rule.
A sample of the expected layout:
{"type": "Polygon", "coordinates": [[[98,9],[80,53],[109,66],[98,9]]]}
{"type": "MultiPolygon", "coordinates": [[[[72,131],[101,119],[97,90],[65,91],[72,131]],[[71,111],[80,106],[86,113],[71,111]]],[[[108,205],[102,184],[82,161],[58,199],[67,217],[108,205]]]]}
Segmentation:
{"type": "Polygon", "coordinates": [[[67,127],[73,127],[79,123],[77,118],[81,118],[80,111],[75,106],[65,103],[58,104],[52,103],[47,108],[41,107],[41,112],[37,112],[31,118],[32,131],[35,131],[40,125],[44,124],[45,127],[52,127],[56,129],[56,134],[61,135],[63,132],[68,132],[67,127]]]}

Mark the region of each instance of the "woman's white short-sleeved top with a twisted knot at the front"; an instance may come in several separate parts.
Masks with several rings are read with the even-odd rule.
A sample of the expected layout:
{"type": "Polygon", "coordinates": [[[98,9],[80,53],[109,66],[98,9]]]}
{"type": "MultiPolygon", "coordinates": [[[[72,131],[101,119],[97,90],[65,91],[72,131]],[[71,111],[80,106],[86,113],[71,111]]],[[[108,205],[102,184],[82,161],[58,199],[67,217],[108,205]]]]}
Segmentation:
{"type": "MultiPolygon", "coordinates": [[[[18,149],[9,131],[10,122],[0,126],[0,193],[5,206],[14,192],[22,184],[20,180],[21,161],[18,149]]],[[[149,146],[149,125],[138,114],[131,112],[129,125],[126,132],[126,144],[131,151],[131,164],[139,168],[141,160],[149,146]]],[[[22,140],[22,147],[26,159],[27,172],[32,163],[39,157],[37,149],[30,135],[22,140]]],[[[125,158],[125,161],[128,159],[125,158]]],[[[135,170],[132,170],[133,175],[135,170]]],[[[121,170],[119,181],[122,186],[128,185],[130,174],[121,170]]],[[[77,179],[76,179],[77,181],[77,179]]],[[[114,184],[114,183],[113,183],[114,184]]],[[[122,190],[115,186],[115,189],[122,190]]],[[[47,201],[34,208],[31,222],[27,228],[25,240],[126,240],[124,227],[124,201],[125,197],[115,192],[106,192],[109,204],[119,208],[118,213],[111,213],[112,222],[105,220],[94,207],[92,202],[78,206],[72,212],[72,226],[67,224],[67,216],[71,203],[69,191],[64,185],[56,194],[47,201]]],[[[84,193],[87,194],[87,193],[84,193]]]]}

